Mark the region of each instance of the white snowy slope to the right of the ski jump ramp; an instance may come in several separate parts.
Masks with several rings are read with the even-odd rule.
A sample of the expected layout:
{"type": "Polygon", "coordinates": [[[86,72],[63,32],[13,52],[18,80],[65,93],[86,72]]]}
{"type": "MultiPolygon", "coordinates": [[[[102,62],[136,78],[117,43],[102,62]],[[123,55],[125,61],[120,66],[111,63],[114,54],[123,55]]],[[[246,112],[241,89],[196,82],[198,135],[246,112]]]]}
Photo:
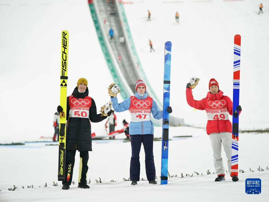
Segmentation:
{"type": "MultiPolygon", "coordinates": [[[[185,87],[193,76],[201,79],[193,90],[196,100],[206,97],[208,82],[217,79],[220,90],[232,98],[233,37],[241,35],[239,127],[269,126],[269,9],[257,15],[260,1],[133,0],[124,4],[134,44],[153,90],[162,100],[164,43],[172,42],[171,106],[186,124],[205,127],[206,113],[186,102],[185,87]],[[147,10],[151,21],[147,21],[147,10]],[[179,12],[179,25],[175,13],[179,12]],[[148,40],[156,52],[150,53],[148,40]]],[[[232,117],[230,116],[230,120],[232,117]]]]}

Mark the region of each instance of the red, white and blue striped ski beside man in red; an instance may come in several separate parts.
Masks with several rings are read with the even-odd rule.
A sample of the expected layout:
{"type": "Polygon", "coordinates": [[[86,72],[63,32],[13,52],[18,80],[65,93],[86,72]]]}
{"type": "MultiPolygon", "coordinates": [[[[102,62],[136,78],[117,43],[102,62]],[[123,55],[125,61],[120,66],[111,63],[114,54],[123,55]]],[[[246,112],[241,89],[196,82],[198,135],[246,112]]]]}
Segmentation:
{"type": "Polygon", "coordinates": [[[231,176],[234,175],[238,176],[239,112],[236,110],[236,107],[239,105],[240,55],[241,55],[241,36],[239,34],[236,34],[234,37],[234,48],[233,48],[233,123],[232,123],[231,176]]]}

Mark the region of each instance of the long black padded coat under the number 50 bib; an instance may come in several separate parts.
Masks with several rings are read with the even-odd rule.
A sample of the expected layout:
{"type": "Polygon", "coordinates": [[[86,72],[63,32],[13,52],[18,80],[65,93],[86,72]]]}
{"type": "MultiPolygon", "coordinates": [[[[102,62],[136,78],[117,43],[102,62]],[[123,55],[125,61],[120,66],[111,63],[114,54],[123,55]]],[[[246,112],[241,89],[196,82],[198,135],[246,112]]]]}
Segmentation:
{"type": "MultiPolygon", "coordinates": [[[[85,98],[89,95],[89,90],[86,88],[84,93],[80,93],[77,87],[72,95],[76,98],[85,98]]],[[[89,109],[89,118],[70,117],[69,118],[69,97],[67,97],[66,107],[66,150],[92,151],[91,148],[91,122],[100,122],[107,118],[97,114],[96,105],[91,98],[91,107],[89,109]],[[90,119],[90,120],[89,120],[90,119]]]]}

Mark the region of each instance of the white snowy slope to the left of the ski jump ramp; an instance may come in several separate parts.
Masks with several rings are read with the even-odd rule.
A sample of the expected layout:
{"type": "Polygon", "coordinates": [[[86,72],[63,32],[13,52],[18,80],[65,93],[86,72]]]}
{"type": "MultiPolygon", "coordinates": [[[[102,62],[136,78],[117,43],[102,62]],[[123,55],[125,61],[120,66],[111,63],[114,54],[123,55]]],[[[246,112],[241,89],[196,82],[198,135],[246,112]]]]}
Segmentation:
{"type": "MultiPolygon", "coordinates": [[[[110,100],[107,87],[113,79],[87,1],[0,0],[0,17],[1,143],[53,136],[62,30],[69,31],[68,95],[85,77],[98,111],[110,100]]],[[[129,121],[126,113],[119,121],[129,121]]],[[[104,124],[93,123],[92,131],[103,133],[104,124]]]]}

